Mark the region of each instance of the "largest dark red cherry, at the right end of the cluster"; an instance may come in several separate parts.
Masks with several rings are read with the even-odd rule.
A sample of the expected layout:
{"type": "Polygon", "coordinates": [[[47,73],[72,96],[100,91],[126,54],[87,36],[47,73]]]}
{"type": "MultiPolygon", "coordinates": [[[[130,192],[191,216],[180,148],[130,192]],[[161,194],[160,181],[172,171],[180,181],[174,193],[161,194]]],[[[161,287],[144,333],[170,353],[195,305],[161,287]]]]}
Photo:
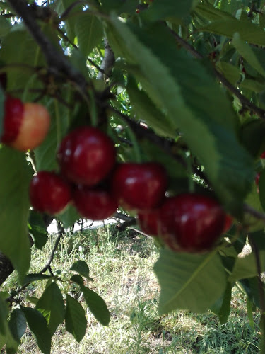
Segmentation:
{"type": "Polygon", "coordinates": [[[160,218],[161,237],[175,251],[211,249],[225,226],[225,212],[218,202],[195,193],[167,198],[160,218]]]}

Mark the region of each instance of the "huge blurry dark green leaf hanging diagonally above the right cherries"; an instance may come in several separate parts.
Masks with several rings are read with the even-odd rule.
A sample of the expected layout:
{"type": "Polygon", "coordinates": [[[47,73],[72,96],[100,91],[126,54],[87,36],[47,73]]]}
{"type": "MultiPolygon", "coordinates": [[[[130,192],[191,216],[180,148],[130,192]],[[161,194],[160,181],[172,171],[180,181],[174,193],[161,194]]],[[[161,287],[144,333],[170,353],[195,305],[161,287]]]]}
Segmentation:
{"type": "Polygon", "coordinates": [[[164,25],[143,31],[113,17],[107,35],[148,96],[183,133],[220,200],[238,212],[254,176],[253,161],[237,140],[237,118],[216,80],[198,60],[177,49],[164,25]]]}

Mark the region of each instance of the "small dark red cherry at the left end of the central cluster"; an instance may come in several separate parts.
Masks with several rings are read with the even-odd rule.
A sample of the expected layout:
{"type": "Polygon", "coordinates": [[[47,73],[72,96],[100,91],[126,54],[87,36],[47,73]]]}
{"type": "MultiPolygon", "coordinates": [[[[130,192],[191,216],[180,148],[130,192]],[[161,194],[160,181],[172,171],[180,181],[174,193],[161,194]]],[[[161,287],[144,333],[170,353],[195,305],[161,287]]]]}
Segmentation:
{"type": "Polygon", "coordinates": [[[40,171],[30,182],[30,202],[38,212],[55,215],[71,200],[71,188],[54,172],[40,171]]]}

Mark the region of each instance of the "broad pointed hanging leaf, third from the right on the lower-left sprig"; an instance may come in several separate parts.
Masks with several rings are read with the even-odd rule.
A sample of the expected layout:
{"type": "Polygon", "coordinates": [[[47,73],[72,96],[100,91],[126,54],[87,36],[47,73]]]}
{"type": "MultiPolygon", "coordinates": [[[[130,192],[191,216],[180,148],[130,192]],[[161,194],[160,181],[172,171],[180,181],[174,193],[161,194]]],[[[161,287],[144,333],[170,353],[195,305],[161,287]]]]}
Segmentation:
{"type": "Polygon", "coordinates": [[[52,282],[43,292],[36,308],[45,313],[50,333],[53,335],[59,324],[64,321],[64,299],[56,282],[52,282]]]}

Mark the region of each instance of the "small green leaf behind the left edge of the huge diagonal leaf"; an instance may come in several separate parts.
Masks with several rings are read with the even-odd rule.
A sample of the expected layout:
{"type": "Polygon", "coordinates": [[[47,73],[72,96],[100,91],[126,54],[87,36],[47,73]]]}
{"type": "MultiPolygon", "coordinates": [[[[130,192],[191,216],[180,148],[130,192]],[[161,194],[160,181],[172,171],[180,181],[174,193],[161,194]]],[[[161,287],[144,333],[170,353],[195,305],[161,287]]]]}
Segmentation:
{"type": "Polygon", "coordinates": [[[139,90],[136,81],[131,76],[128,78],[126,89],[139,119],[150,125],[158,135],[176,136],[175,125],[172,124],[170,118],[155,106],[143,90],[139,90]]]}

